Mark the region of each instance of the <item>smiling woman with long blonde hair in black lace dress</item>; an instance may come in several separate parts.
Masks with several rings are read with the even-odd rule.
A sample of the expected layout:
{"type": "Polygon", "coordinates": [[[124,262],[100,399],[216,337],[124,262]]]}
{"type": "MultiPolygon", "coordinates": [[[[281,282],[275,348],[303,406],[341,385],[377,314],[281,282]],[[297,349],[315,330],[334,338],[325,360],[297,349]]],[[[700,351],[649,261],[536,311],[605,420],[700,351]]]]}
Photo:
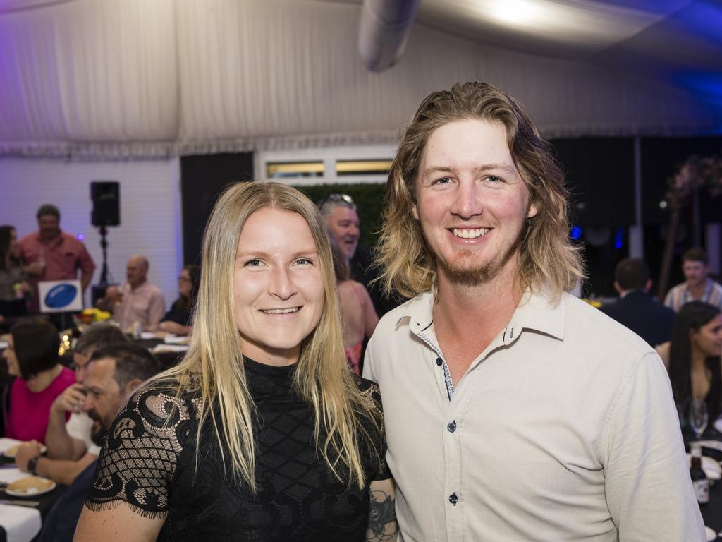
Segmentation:
{"type": "Polygon", "coordinates": [[[339,312],[316,207],[228,189],[188,355],[111,426],[75,540],[394,540],[378,388],[349,371],[339,312]]]}

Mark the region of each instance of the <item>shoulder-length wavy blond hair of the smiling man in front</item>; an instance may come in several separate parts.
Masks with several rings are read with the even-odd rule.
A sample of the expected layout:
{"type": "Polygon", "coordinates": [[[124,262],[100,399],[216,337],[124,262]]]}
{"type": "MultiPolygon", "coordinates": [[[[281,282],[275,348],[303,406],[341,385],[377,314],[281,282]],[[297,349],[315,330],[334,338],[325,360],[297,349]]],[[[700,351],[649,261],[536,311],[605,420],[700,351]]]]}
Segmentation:
{"type": "Polygon", "coordinates": [[[399,144],[388,173],[378,246],[384,291],[413,297],[434,284],[435,258],[412,215],[417,174],[434,130],[467,119],[498,122],[505,127],[514,163],[537,210],[526,222],[521,243],[521,279],[531,288],[550,288],[552,297],[559,298],[584,276],[580,254],[569,238],[564,174],[521,106],[492,85],[480,82],[457,83],[451,90],[428,95],[399,144]]]}

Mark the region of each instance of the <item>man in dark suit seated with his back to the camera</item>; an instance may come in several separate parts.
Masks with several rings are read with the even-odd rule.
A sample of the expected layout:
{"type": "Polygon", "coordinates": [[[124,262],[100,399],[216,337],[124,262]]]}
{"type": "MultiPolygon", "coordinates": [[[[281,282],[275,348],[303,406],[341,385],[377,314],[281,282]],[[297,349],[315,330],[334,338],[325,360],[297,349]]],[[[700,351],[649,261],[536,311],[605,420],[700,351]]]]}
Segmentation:
{"type": "Polygon", "coordinates": [[[649,295],[651,286],[649,267],[643,259],[622,259],[614,270],[619,299],[601,311],[656,346],[670,339],[675,314],[649,295]]]}

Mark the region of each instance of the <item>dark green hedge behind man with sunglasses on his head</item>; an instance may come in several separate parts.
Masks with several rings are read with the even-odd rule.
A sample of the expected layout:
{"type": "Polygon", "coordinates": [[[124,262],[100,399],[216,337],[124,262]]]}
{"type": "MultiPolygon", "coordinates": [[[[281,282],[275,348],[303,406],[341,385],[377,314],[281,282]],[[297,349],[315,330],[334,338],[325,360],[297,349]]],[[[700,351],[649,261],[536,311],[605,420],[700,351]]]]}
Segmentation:
{"type": "Polygon", "coordinates": [[[378,238],[381,226],[383,198],[386,197],[386,184],[319,184],[316,186],[294,186],[314,203],[318,203],[328,194],[348,194],[358,207],[361,221],[359,244],[373,246],[378,238]]]}

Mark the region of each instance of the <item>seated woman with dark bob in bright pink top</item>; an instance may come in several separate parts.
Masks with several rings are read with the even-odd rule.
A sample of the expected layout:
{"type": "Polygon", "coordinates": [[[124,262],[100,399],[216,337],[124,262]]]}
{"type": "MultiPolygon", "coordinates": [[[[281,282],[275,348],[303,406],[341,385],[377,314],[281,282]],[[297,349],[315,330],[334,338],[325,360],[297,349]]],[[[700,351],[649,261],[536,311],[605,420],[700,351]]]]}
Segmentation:
{"type": "Polygon", "coordinates": [[[44,443],[53,400],[75,382],[75,374],[58,363],[58,330],[44,319],[15,324],[8,343],[3,355],[17,378],[4,392],[9,401],[2,401],[5,436],[44,443]]]}

